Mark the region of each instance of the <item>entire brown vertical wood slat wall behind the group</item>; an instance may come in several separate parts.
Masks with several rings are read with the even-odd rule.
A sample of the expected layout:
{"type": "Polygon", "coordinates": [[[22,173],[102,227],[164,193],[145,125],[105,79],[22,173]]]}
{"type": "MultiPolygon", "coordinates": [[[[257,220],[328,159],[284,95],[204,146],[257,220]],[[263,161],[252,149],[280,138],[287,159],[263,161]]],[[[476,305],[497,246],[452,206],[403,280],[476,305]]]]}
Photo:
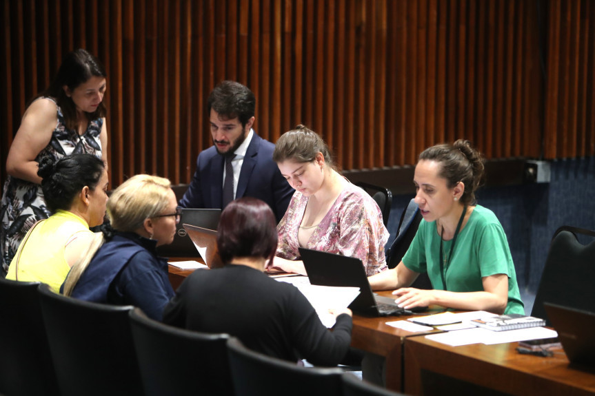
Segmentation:
{"type": "Polygon", "coordinates": [[[141,172],[188,183],[223,79],[254,91],[261,136],[309,125],[343,169],[411,165],[455,138],[487,158],[595,154],[585,0],[4,0],[0,12],[2,180],[26,102],[79,47],[108,72],[114,187],[141,172]]]}

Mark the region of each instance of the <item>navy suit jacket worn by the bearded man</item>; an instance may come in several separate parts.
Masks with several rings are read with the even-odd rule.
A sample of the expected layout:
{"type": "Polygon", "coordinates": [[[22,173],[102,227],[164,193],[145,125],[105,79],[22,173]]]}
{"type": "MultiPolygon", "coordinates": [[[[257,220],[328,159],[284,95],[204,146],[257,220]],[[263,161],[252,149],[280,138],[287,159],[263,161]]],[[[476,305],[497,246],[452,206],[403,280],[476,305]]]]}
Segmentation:
{"type": "MultiPolygon", "coordinates": [[[[252,136],[244,157],[236,198],[251,196],[266,202],[277,222],[288,209],[294,189],[279,172],[273,161],[275,145],[256,133],[252,136]]],[[[185,208],[221,208],[223,198],[223,167],[225,158],[214,146],[205,149],[196,159],[196,171],[179,202],[185,208]]]]}

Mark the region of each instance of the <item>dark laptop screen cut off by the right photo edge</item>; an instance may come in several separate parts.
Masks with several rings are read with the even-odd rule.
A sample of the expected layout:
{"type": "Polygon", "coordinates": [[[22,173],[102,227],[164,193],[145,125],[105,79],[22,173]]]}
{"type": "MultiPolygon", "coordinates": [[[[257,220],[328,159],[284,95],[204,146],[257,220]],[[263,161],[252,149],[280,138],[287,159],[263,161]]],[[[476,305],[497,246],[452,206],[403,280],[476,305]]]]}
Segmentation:
{"type": "Polygon", "coordinates": [[[595,368],[595,313],[545,302],[545,312],[572,364],[595,368]]]}

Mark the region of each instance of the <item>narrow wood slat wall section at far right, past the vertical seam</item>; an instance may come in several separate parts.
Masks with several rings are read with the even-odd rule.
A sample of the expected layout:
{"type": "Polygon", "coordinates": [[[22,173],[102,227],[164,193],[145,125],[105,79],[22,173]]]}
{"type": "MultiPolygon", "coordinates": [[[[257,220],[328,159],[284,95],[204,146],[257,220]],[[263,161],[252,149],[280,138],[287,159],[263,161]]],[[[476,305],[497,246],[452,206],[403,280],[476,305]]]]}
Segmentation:
{"type": "Polygon", "coordinates": [[[594,154],[594,14],[592,1],[547,2],[546,158],[594,154]]]}

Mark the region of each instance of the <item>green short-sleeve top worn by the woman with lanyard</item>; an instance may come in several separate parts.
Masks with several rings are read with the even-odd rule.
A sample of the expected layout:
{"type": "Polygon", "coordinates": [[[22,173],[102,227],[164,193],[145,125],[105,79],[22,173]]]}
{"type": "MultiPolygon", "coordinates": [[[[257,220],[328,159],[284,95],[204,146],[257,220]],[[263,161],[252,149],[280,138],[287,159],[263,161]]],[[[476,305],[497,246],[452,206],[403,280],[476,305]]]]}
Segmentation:
{"type": "Polygon", "coordinates": [[[440,239],[436,221],[421,220],[403,256],[405,267],[418,273],[427,272],[434,289],[457,292],[483,291],[483,277],[505,273],[508,303],[504,313],[525,313],[506,235],[494,212],[480,205],[475,207],[458,233],[452,258],[449,258],[452,240],[443,242],[443,257],[449,258],[447,266],[443,265],[446,286],[440,273],[440,239]]]}

